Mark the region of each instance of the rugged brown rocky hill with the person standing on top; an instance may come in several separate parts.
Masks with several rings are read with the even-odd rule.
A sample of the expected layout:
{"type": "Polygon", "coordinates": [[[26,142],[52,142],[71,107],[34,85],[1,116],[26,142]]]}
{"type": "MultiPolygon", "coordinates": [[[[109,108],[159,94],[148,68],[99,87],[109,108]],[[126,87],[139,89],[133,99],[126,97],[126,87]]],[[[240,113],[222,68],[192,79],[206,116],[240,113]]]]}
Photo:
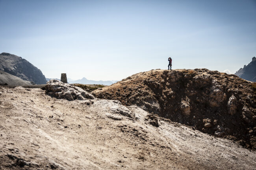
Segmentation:
{"type": "Polygon", "coordinates": [[[192,126],[256,149],[256,86],[208,69],[151,70],[93,91],[100,99],[192,126]]]}

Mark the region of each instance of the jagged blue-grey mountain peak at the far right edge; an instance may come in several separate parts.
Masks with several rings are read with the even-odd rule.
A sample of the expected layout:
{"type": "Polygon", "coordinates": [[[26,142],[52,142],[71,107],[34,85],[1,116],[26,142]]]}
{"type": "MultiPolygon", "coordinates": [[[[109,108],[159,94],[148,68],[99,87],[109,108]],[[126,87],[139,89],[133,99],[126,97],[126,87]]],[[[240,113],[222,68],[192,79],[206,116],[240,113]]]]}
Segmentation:
{"type": "Polygon", "coordinates": [[[240,68],[235,75],[241,77],[242,79],[256,82],[256,58],[253,57],[252,61],[243,68],[240,68]]]}

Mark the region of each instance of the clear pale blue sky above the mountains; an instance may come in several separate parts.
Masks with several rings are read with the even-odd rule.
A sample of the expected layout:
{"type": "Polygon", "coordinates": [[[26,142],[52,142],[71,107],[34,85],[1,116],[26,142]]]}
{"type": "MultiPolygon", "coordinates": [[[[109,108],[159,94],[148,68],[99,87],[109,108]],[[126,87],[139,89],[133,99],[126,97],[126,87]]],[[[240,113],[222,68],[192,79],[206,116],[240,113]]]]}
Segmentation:
{"type": "Polygon", "coordinates": [[[256,0],[0,0],[0,53],[47,78],[151,69],[235,73],[256,56],[256,0]]]}

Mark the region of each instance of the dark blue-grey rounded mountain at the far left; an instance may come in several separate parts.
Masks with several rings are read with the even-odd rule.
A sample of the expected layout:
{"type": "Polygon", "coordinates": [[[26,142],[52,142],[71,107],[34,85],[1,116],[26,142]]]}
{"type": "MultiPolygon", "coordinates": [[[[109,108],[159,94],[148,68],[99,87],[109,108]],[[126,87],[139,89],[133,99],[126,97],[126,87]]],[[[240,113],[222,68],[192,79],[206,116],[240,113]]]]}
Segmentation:
{"type": "Polygon", "coordinates": [[[0,70],[35,84],[46,84],[45,76],[41,70],[17,55],[1,53],[0,70]]]}

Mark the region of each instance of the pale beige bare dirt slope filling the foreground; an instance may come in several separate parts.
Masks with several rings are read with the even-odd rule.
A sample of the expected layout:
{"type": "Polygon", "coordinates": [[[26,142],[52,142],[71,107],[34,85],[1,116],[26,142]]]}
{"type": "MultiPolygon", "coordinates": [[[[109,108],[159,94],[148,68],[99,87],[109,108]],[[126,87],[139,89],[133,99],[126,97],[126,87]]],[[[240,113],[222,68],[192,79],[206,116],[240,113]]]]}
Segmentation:
{"type": "MultiPolygon", "coordinates": [[[[63,86],[52,84],[48,90],[63,90],[65,95],[68,91],[78,91],[77,96],[83,93],[63,86]]],[[[49,91],[0,86],[0,169],[256,167],[255,151],[149,114],[137,106],[125,107],[119,101],[96,98],[67,101],[46,93],[49,91]]]]}

